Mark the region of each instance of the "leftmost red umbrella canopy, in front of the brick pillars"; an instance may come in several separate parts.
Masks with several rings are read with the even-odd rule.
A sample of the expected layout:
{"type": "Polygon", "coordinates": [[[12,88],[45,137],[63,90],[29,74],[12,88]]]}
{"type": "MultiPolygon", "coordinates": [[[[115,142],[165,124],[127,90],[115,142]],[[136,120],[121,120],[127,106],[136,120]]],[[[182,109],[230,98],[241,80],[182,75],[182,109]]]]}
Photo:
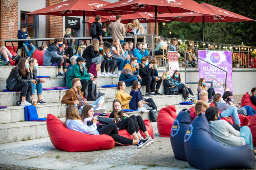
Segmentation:
{"type": "Polygon", "coordinates": [[[109,15],[109,12],[94,10],[95,8],[100,8],[108,4],[111,3],[102,0],[68,0],[28,14],[83,16],[83,11],[85,11],[85,16],[109,15]]]}

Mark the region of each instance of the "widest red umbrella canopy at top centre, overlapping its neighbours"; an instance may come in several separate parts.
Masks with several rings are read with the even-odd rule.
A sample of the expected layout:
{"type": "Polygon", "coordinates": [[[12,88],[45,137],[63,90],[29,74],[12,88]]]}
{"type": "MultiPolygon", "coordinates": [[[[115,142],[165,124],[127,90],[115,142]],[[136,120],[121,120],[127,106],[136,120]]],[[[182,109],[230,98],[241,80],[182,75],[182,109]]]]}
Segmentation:
{"type": "Polygon", "coordinates": [[[157,6],[157,12],[161,13],[193,11],[212,15],[210,11],[193,0],[122,0],[100,7],[98,10],[155,12],[155,6],[157,6]]]}

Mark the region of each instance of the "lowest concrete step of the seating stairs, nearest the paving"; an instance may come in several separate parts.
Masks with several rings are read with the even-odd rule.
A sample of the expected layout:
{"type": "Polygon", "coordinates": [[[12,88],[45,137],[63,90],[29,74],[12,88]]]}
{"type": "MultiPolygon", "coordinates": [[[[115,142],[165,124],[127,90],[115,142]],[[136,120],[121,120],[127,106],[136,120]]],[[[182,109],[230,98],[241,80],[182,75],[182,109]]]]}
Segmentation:
{"type": "MultiPolygon", "coordinates": [[[[176,105],[177,113],[192,105],[176,105]]],[[[161,107],[162,108],[162,107],[161,107]]],[[[129,112],[128,115],[140,115],[143,119],[149,119],[148,112],[129,112]]],[[[62,121],[65,117],[60,118],[62,121]]],[[[46,122],[15,122],[0,124],[0,144],[17,142],[22,140],[38,139],[48,137],[46,122]]]]}

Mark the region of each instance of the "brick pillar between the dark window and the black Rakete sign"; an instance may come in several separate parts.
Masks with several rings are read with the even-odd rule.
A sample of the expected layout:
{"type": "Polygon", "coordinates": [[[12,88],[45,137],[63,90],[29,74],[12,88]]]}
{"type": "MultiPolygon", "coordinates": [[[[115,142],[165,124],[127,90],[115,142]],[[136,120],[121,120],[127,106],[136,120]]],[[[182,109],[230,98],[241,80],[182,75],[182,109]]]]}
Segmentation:
{"type": "MultiPolygon", "coordinates": [[[[46,7],[62,2],[62,0],[46,0],[46,7]]],[[[63,37],[63,17],[46,16],[46,38],[63,37]]],[[[53,41],[51,41],[53,42],[53,41]]]]}

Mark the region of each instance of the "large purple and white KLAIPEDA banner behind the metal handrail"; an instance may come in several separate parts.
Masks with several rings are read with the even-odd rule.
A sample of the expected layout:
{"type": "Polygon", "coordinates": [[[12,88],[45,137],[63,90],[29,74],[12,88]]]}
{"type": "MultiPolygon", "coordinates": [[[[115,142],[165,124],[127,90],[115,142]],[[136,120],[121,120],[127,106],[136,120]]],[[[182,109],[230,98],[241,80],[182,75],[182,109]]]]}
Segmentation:
{"type": "MultiPolygon", "coordinates": [[[[233,92],[232,87],[232,51],[198,51],[198,57],[228,72],[226,91],[233,92]]],[[[226,72],[202,60],[198,60],[199,79],[213,82],[215,93],[223,94],[226,72]]]]}

